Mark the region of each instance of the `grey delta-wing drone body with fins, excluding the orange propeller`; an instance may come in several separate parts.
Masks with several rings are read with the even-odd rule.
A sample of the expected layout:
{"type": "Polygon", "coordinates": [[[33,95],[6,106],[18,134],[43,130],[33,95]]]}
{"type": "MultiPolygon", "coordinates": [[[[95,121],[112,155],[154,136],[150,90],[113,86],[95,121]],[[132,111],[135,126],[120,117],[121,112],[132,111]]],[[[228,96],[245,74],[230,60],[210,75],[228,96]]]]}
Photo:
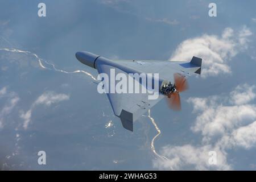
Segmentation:
{"type": "MultiPolygon", "coordinates": [[[[200,75],[202,64],[202,59],[195,56],[191,61],[110,60],[94,53],[81,51],[76,53],[76,58],[81,63],[97,69],[98,73],[106,73],[108,76],[110,76],[110,69],[115,69],[116,74],[124,73],[127,76],[129,73],[159,74],[159,97],[156,100],[149,100],[148,93],[107,93],[114,114],[121,119],[123,127],[130,131],[133,131],[133,122],[162,98],[171,97],[174,93],[179,94],[175,86],[175,74],[183,78],[193,73],[200,75]]],[[[175,100],[180,100],[179,95],[176,98],[175,100]]]]}

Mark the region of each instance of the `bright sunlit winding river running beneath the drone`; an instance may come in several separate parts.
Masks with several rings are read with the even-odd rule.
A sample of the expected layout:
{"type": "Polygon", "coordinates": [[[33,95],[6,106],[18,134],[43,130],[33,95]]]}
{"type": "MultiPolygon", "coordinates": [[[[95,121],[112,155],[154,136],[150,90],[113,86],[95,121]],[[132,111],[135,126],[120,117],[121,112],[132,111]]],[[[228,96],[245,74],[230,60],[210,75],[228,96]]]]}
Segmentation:
{"type": "MultiPolygon", "coordinates": [[[[38,63],[39,63],[39,65],[40,65],[41,68],[43,68],[43,69],[50,69],[50,70],[51,70],[51,68],[47,68],[46,66],[43,65],[43,63],[42,63],[43,60],[40,59],[38,55],[36,55],[35,53],[32,53],[32,52],[30,52],[30,51],[22,51],[22,50],[15,49],[15,48],[13,48],[13,49],[9,49],[9,48],[0,48],[0,51],[24,53],[24,54],[26,54],[26,55],[34,56],[34,57],[38,60],[38,63]]],[[[83,70],[76,70],[76,71],[72,71],[72,72],[67,72],[67,71],[64,71],[64,70],[62,70],[62,69],[57,69],[57,68],[55,68],[55,65],[52,64],[52,63],[48,63],[48,61],[44,61],[44,62],[45,62],[46,64],[48,64],[48,65],[51,65],[52,68],[53,68],[53,70],[56,71],[56,72],[62,72],[62,73],[67,73],[67,74],[72,74],[72,73],[84,73],[85,75],[90,76],[94,81],[97,81],[97,79],[96,79],[95,77],[93,77],[93,75],[92,75],[91,73],[88,73],[88,72],[86,72],[86,71],[83,71],[83,70]]],[[[165,156],[159,155],[158,152],[156,152],[156,150],[155,150],[154,142],[155,142],[155,139],[158,138],[158,136],[161,134],[161,130],[160,130],[159,127],[156,125],[155,119],[151,117],[151,115],[150,115],[150,109],[148,110],[148,118],[150,118],[152,124],[154,125],[156,131],[158,132],[158,133],[155,135],[155,137],[152,138],[152,140],[151,140],[151,150],[152,150],[152,152],[154,152],[154,154],[155,154],[156,156],[158,156],[159,158],[167,159],[165,156]]]]}

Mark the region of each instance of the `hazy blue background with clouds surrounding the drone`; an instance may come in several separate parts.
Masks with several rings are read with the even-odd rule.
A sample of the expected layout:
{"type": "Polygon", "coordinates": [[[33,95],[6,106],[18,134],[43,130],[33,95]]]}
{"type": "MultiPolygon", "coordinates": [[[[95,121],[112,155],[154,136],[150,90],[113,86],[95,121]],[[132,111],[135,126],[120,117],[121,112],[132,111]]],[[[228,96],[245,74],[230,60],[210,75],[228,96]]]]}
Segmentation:
{"type": "Polygon", "coordinates": [[[256,2],[215,1],[213,18],[210,2],[1,1],[1,168],[255,169],[256,2]],[[203,58],[201,77],[182,93],[183,110],[164,100],[151,109],[162,132],[155,149],[167,159],[151,150],[157,132],[147,115],[126,131],[90,76],[47,64],[97,76],[76,60],[81,50],[111,59],[203,58]]]}

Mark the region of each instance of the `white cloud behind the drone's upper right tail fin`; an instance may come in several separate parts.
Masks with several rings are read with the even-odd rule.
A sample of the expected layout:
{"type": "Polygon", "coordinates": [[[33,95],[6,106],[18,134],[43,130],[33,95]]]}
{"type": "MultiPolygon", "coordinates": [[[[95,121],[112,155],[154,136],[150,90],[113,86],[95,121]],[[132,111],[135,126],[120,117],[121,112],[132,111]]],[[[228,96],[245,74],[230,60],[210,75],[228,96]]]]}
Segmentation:
{"type": "Polygon", "coordinates": [[[243,26],[235,32],[225,28],[221,36],[204,34],[197,38],[184,40],[176,48],[171,61],[188,61],[193,56],[203,59],[202,77],[217,76],[220,73],[231,73],[228,65],[237,53],[248,48],[252,35],[249,28],[243,26]]]}

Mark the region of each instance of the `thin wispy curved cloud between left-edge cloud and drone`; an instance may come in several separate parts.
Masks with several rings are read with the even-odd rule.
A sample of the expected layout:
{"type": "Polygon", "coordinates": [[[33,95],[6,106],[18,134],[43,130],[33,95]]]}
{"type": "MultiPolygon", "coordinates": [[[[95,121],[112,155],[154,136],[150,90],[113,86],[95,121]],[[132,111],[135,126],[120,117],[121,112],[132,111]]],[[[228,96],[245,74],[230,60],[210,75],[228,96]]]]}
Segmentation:
{"type": "Polygon", "coordinates": [[[26,112],[23,110],[20,111],[20,118],[23,121],[23,128],[26,130],[28,128],[29,123],[31,122],[32,110],[35,109],[37,105],[46,105],[51,106],[52,104],[56,104],[60,101],[69,100],[69,96],[66,94],[57,94],[55,92],[44,92],[41,96],[39,96],[35,102],[31,105],[30,109],[26,112]]]}

